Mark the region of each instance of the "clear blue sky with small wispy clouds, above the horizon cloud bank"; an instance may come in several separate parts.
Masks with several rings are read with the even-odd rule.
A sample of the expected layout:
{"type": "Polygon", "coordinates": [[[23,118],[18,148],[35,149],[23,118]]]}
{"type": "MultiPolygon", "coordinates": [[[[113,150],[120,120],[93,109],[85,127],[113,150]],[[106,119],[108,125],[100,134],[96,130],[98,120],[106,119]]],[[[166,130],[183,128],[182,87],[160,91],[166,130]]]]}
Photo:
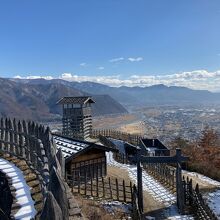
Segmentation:
{"type": "Polygon", "coordinates": [[[219,27],[219,0],[1,0],[0,76],[219,77],[219,27]]]}

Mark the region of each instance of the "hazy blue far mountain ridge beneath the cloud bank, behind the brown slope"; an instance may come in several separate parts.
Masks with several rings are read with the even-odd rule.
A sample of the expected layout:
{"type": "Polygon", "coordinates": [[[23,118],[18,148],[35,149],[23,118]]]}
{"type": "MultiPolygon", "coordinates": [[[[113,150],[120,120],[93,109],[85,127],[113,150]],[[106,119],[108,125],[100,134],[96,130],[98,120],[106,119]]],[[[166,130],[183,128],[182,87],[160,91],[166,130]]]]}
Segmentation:
{"type": "Polygon", "coordinates": [[[101,95],[110,95],[125,107],[146,105],[186,105],[186,104],[220,104],[220,93],[207,90],[193,90],[186,87],[165,86],[163,84],[149,87],[111,87],[94,82],[69,82],[61,79],[25,80],[28,84],[58,83],[80,91],[101,95]]]}

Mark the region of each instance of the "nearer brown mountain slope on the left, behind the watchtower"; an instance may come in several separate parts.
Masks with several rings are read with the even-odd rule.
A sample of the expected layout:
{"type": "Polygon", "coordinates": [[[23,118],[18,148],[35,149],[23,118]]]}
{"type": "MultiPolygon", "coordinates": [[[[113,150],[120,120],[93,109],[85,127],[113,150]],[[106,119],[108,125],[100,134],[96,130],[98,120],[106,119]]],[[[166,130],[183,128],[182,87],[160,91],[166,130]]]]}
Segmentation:
{"type": "MultiPolygon", "coordinates": [[[[0,116],[53,120],[61,117],[56,102],[64,96],[91,95],[56,81],[17,81],[0,78],[0,116]]],[[[109,95],[93,95],[93,115],[123,114],[127,110],[109,95]],[[108,104],[108,105],[107,105],[108,104]]]]}

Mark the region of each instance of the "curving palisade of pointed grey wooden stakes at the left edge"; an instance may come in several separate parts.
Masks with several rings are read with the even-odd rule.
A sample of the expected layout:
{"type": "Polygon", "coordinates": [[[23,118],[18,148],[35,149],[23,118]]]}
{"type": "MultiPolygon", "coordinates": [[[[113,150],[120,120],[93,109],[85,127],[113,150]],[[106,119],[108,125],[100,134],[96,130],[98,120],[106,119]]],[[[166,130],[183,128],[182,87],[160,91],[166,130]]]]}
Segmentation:
{"type": "Polygon", "coordinates": [[[37,173],[43,194],[46,195],[50,177],[49,163],[52,161],[52,152],[49,152],[52,149],[49,147],[52,145],[49,129],[34,122],[12,122],[7,118],[2,118],[0,123],[0,150],[25,159],[37,173]]]}

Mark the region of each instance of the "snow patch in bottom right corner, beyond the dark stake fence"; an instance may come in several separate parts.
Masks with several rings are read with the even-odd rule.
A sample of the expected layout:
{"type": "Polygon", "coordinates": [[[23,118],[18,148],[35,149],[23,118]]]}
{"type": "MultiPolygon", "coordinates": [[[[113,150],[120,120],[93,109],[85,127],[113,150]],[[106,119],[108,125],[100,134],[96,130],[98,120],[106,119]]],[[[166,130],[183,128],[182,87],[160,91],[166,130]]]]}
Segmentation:
{"type": "Polygon", "coordinates": [[[220,189],[204,195],[209,207],[220,219],[220,189]]]}

